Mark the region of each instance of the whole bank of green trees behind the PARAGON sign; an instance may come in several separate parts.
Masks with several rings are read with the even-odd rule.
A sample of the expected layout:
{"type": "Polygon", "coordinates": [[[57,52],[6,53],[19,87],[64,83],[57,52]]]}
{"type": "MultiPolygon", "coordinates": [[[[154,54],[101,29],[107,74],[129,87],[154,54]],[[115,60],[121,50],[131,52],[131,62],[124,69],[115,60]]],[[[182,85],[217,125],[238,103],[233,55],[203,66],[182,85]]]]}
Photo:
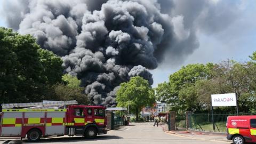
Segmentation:
{"type": "MultiPolygon", "coordinates": [[[[174,111],[210,110],[211,94],[236,93],[239,110],[256,112],[256,52],[251,61],[227,60],[217,64],[193,64],[182,67],[169,77],[169,82],[158,84],[156,97],[171,103],[174,111]]],[[[235,110],[221,107],[219,110],[235,110]]]]}

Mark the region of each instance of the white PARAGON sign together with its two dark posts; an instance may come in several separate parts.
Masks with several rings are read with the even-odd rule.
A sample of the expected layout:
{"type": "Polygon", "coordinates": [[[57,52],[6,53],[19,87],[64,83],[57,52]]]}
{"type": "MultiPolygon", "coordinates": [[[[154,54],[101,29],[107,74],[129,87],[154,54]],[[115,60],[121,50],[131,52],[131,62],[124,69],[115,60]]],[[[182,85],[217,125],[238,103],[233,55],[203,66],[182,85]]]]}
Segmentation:
{"type": "Polygon", "coordinates": [[[212,101],[211,113],[212,113],[212,124],[213,124],[212,127],[214,131],[215,131],[215,122],[214,122],[214,116],[213,116],[213,107],[236,106],[237,115],[239,114],[236,93],[212,94],[211,101],[212,101]]]}

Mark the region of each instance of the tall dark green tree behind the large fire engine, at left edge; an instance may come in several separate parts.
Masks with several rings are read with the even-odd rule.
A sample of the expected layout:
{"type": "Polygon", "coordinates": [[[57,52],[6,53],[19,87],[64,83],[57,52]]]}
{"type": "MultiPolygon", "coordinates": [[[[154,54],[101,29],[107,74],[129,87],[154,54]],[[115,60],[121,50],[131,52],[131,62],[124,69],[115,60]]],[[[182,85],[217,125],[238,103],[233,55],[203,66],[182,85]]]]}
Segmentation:
{"type": "Polygon", "coordinates": [[[0,102],[51,98],[49,84],[61,81],[61,59],[42,50],[30,35],[0,28],[0,102]]]}

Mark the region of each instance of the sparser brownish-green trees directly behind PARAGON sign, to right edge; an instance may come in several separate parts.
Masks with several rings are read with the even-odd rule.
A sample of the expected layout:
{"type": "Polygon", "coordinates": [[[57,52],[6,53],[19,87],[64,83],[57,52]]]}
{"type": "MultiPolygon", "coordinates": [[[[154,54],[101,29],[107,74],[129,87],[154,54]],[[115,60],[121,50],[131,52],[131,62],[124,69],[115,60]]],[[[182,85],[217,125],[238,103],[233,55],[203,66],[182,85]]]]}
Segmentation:
{"type": "MultiPolygon", "coordinates": [[[[223,61],[215,65],[211,79],[196,82],[198,99],[210,109],[211,94],[237,93],[239,111],[255,112],[255,73],[256,65],[253,62],[223,61]]],[[[222,107],[222,110],[235,110],[222,107]]]]}

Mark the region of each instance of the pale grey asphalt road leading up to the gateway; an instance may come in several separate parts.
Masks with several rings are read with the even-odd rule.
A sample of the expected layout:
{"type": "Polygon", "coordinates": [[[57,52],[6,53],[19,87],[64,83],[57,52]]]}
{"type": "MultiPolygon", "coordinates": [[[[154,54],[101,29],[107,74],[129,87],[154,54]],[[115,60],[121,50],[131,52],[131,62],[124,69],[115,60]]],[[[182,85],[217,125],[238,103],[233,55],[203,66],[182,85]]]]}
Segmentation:
{"type": "MultiPolygon", "coordinates": [[[[26,140],[24,141],[27,142],[26,140]]],[[[154,127],[153,123],[132,123],[130,126],[122,127],[122,129],[109,131],[105,135],[99,135],[97,139],[88,140],[82,137],[57,137],[42,139],[39,143],[177,143],[177,144],[219,144],[227,143],[214,140],[193,139],[190,137],[182,137],[174,134],[167,134],[162,130],[161,126],[154,127]]]]}

